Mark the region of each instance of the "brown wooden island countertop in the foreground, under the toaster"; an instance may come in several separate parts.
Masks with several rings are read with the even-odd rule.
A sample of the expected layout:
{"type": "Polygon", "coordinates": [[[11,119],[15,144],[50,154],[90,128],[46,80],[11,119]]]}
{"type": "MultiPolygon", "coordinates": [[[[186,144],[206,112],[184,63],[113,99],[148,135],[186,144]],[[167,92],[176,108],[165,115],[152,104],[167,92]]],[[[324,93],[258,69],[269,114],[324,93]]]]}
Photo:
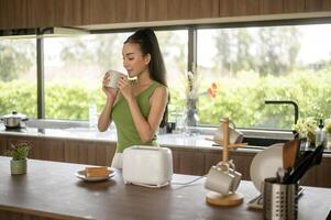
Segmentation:
{"type": "MultiPolygon", "coordinates": [[[[84,165],[29,160],[26,175],[10,175],[10,158],[0,156],[0,210],[54,219],[263,219],[262,211],[246,202],[257,195],[251,182],[239,188],[244,204],[233,208],[206,204],[205,178],[174,175],[161,189],[124,185],[121,173],[110,180],[86,183],[74,174],[84,165]]],[[[331,189],[305,187],[299,199],[299,219],[326,219],[331,189]]],[[[1,217],[1,215],[0,215],[1,217]]]]}

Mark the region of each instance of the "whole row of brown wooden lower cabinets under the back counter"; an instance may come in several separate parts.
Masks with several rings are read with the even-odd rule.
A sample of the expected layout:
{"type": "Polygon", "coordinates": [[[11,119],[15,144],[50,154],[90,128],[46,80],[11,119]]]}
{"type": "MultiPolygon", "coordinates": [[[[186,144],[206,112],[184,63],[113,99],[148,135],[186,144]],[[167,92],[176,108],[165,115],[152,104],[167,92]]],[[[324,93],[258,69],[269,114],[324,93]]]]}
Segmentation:
{"type": "MultiPolygon", "coordinates": [[[[114,142],[0,134],[0,155],[4,155],[11,143],[22,141],[29,142],[33,146],[29,157],[36,160],[110,166],[115,153],[114,142]]],[[[167,147],[172,150],[174,173],[176,174],[202,176],[208,174],[211,166],[222,160],[221,148],[167,147]]],[[[230,160],[233,160],[236,170],[242,174],[242,179],[251,180],[250,167],[256,153],[257,151],[231,150],[230,160]]],[[[330,169],[331,157],[323,156],[322,163],[312,167],[300,184],[331,188],[331,178],[328,175],[330,169]]]]}

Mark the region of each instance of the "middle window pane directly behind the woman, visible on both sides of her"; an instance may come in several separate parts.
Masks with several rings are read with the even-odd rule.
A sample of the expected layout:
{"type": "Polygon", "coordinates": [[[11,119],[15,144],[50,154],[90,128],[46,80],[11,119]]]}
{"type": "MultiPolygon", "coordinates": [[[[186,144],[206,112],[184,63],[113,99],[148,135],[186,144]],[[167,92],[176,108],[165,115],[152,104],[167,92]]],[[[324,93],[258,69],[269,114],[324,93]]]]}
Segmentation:
{"type": "MultiPolygon", "coordinates": [[[[103,74],[108,69],[125,73],[122,45],[131,34],[45,38],[46,118],[87,120],[90,102],[97,103],[100,111],[104,105],[101,90],[103,74]]],[[[156,35],[168,72],[168,81],[172,81],[169,88],[178,94],[183,82],[174,78],[183,77],[187,66],[187,32],[159,31],[156,35]]]]}

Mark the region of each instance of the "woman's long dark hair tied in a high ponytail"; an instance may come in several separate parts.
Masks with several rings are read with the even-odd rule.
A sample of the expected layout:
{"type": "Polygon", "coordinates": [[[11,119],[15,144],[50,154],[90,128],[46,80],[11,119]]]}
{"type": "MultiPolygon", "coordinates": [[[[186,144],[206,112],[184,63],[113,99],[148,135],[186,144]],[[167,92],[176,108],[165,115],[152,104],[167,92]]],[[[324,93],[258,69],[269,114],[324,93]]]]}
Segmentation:
{"type": "MultiPolygon", "coordinates": [[[[126,41],[124,41],[124,44],[126,43],[139,44],[143,56],[147,54],[151,55],[151,62],[148,64],[151,78],[164,85],[165,87],[168,87],[167,78],[166,78],[166,68],[158,46],[158,41],[154,31],[151,29],[139,30],[134,32],[134,34],[129,36],[126,41]]],[[[161,121],[159,127],[162,128],[165,127],[167,124],[167,119],[168,119],[168,103],[166,105],[166,109],[163,114],[163,119],[161,121]]]]}

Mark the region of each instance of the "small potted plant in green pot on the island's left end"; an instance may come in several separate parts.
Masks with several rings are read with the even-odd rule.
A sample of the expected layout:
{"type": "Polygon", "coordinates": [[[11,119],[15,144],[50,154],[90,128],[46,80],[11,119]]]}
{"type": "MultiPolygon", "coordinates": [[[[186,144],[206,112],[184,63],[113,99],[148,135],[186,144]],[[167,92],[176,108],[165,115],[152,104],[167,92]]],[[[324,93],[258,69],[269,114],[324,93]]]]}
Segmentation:
{"type": "Polygon", "coordinates": [[[30,144],[26,142],[20,142],[16,144],[11,144],[10,148],[7,150],[5,154],[12,160],[10,161],[11,174],[25,174],[27,155],[30,151],[30,144]]]}

